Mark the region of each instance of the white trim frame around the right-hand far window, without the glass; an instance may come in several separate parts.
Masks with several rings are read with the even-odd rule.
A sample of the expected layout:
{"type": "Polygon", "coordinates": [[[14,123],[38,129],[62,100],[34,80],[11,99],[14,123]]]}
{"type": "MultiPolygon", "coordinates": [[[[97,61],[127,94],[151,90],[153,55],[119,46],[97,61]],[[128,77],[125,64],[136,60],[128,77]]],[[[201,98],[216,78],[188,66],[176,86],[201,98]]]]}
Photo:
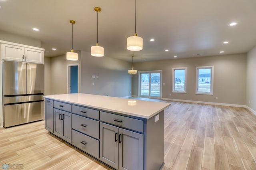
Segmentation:
{"type": "Polygon", "coordinates": [[[214,85],[214,66],[200,66],[196,67],[196,94],[197,95],[213,95],[213,85],[214,85]],[[211,92],[198,92],[198,69],[211,69],[211,92]]]}

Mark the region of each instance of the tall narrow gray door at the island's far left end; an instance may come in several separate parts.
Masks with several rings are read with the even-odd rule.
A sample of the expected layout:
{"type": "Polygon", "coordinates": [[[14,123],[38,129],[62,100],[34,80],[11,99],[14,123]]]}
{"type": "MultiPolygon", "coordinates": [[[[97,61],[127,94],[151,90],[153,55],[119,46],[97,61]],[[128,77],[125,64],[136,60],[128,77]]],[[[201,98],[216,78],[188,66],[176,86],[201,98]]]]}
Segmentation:
{"type": "Polygon", "coordinates": [[[53,101],[45,99],[45,129],[53,133],[53,101]]]}

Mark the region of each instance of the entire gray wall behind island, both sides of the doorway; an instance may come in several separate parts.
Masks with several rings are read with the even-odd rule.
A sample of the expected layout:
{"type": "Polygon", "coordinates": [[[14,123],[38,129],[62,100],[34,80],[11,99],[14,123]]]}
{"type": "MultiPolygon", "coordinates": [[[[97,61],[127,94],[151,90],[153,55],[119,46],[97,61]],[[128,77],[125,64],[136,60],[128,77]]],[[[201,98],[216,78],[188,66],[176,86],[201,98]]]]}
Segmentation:
{"type": "Polygon", "coordinates": [[[50,63],[45,62],[51,68],[50,75],[45,76],[45,81],[51,84],[51,94],[67,93],[67,65],[72,63],[79,63],[80,93],[114,97],[131,95],[132,78],[128,74],[131,63],[110,57],[92,57],[85,51],[78,53],[78,61],[68,61],[66,55],[62,55],[52,57],[50,63]],[[95,75],[94,79],[92,75],[95,75]]]}

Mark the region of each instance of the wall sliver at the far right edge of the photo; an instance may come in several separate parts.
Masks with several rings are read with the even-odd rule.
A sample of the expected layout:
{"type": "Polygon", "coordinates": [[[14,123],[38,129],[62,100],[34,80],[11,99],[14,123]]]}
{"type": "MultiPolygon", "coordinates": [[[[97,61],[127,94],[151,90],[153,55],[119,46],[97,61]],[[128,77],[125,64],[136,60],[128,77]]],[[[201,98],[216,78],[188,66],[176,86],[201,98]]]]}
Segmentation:
{"type": "Polygon", "coordinates": [[[247,53],[246,105],[256,111],[256,46],[247,53]]]}

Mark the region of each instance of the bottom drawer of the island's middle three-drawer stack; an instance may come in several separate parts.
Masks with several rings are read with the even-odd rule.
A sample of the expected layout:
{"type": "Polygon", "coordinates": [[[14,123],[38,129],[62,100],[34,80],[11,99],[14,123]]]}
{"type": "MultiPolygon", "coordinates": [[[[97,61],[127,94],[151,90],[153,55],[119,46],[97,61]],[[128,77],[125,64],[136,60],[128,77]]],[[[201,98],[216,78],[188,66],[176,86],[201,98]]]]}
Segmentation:
{"type": "Polygon", "coordinates": [[[91,154],[95,158],[99,158],[99,141],[86,136],[76,130],[72,130],[72,144],[84,152],[91,154]]]}

